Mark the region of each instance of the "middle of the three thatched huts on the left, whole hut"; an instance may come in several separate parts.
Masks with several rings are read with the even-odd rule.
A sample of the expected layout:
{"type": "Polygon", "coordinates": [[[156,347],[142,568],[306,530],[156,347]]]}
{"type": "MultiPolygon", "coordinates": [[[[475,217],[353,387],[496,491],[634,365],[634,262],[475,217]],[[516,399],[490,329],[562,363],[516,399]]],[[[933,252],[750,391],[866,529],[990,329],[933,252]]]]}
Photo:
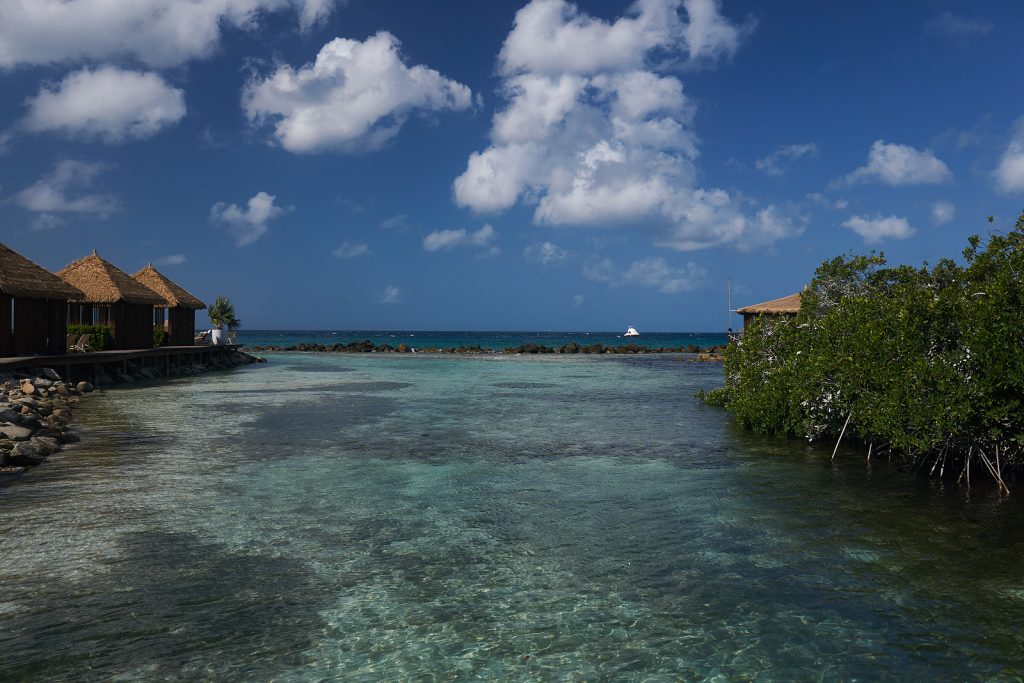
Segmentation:
{"type": "Polygon", "coordinates": [[[84,294],[72,301],[70,323],[108,326],[111,348],[153,347],[153,307],[164,303],[162,296],[100,258],[95,250],[57,275],[84,294]]]}

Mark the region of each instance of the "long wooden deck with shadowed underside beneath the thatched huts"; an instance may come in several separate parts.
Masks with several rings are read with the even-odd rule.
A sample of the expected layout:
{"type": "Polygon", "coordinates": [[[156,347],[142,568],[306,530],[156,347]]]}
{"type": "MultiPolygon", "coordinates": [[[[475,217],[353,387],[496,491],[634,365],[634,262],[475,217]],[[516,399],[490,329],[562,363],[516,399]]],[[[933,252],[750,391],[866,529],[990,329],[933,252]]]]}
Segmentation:
{"type": "Polygon", "coordinates": [[[91,378],[95,383],[100,369],[119,364],[121,371],[127,372],[128,361],[131,360],[144,368],[163,371],[164,376],[167,376],[170,375],[171,368],[190,369],[196,362],[203,362],[214,355],[236,351],[240,348],[239,344],[224,344],[223,346],[200,344],[57,355],[0,356],[0,373],[20,368],[52,368],[66,379],[70,380],[73,377],[91,378]]]}

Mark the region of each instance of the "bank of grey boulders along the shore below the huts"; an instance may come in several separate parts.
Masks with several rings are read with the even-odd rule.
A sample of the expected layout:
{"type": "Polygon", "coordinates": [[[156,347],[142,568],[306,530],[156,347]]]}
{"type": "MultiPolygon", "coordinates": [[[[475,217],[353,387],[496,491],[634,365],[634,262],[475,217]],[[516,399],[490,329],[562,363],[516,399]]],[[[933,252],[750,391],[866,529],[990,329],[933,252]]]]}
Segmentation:
{"type": "MultiPolygon", "coordinates": [[[[170,376],[199,375],[253,362],[265,362],[242,351],[225,353],[210,364],[171,368],[170,376]]],[[[163,377],[151,368],[127,362],[113,374],[100,373],[100,386],[115,386],[163,377]],[[126,370],[126,372],[125,372],[126,370]]],[[[71,426],[73,411],[82,397],[97,390],[91,382],[72,382],[52,368],[29,368],[0,373],[0,483],[41,465],[65,444],[78,441],[71,426]]]]}

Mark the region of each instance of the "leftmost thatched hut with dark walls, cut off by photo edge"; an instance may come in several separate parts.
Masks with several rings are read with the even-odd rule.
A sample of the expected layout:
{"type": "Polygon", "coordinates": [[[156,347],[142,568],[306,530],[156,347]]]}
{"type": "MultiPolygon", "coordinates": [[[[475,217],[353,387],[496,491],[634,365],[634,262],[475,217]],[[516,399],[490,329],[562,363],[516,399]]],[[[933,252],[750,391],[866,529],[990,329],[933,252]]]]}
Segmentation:
{"type": "Polygon", "coordinates": [[[0,355],[63,353],[68,301],[82,292],[0,244],[0,355]]]}

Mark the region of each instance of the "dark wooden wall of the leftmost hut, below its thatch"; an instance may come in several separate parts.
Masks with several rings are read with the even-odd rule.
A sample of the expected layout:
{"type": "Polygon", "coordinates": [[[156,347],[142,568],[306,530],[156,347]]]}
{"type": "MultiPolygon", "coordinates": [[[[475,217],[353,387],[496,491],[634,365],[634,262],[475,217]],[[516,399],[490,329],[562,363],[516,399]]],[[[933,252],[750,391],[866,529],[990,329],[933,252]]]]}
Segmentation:
{"type": "Polygon", "coordinates": [[[67,301],[0,295],[0,355],[63,353],[67,310],[67,301]]]}

